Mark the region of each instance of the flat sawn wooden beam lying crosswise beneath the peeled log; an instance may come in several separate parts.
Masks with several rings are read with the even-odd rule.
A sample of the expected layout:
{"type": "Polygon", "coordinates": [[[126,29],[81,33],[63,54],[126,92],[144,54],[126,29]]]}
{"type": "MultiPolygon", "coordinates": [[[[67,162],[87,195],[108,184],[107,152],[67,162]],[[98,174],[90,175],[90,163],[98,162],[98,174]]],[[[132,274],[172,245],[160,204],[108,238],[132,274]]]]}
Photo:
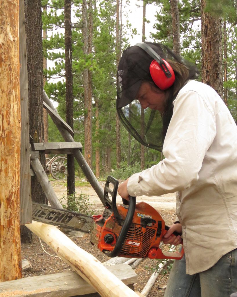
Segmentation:
{"type": "MultiPolygon", "coordinates": [[[[131,285],[137,282],[138,276],[129,265],[118,264],[108,266],[107,269],[110,273],[113,273],[113,275],[118,277],[118,279],[125,285],[131,285]]],[[[27,277],[0,283],[1,297],[88,296],[88,294],[95,292],[96,290],[75,271],[27,277]]],[[[93,294],[93,296],[96,295],[93,294]]]]}

